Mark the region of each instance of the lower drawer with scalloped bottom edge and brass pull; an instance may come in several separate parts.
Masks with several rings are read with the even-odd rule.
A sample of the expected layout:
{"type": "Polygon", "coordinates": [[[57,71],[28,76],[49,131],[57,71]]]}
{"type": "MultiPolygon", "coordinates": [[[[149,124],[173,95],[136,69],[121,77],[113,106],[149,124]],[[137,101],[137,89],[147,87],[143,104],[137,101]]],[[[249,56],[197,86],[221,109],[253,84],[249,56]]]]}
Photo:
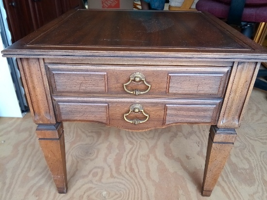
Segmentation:
{"type": "Polygon", "coordinates": [[[96,121],[143,131],[169,124],[216,124],[221,99],[119,99],[54,97],[58,121],[96,121]]]}

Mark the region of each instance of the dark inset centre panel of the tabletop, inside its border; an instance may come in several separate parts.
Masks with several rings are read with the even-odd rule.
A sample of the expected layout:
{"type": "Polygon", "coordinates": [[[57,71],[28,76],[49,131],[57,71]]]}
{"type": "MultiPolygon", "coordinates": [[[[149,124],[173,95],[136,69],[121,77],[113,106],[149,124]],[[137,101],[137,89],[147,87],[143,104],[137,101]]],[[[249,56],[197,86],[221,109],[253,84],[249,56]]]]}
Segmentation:
{"type": "Polygon", "coordinates": [[[31,43],[48,46],[79,44],[98,47],[250,49],[205,20],[200,12],[80,10],[31,43]],[[181,30],[184,33],[177,34],[181,30]],[[209,30],[210,37],[203,34],[206,30],[209,30]],[[191,37],[191,33],[195,36],[191,37]]]}

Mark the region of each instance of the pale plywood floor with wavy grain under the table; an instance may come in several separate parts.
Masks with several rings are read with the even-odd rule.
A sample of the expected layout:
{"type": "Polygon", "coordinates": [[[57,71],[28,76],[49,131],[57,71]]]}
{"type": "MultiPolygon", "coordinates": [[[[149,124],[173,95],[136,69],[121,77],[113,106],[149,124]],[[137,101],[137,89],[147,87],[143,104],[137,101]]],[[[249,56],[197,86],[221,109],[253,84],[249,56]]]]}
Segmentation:
{"type": "Polygon", "coordinates": [[[0,200],[267,200],[267,93],[253,89],[210,198],[200,195],[208,126],[128,132],[65,123],[67,194],[58,194],[30,114],[0,118],[0,200]]]}

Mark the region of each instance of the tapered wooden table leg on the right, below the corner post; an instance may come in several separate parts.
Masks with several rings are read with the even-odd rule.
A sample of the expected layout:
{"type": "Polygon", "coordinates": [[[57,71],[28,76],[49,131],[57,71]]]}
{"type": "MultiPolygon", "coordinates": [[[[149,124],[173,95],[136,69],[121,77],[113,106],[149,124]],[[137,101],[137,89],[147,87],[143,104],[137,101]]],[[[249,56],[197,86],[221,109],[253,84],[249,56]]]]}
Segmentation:
{"type": "Polygon", "coordinates": [[[202,185],[202,196],[209,197],[226,163],[236,132],[211,126],[202,185]]]}

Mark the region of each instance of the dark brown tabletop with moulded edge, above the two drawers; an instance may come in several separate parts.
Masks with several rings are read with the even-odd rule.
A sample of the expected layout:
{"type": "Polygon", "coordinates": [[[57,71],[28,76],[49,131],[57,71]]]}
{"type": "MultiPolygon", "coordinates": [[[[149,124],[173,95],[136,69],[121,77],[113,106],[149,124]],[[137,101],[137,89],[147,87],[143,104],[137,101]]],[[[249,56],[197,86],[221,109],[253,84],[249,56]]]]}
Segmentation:
{"type": "Polygon", "coordinates": [[[4,56],[113,53],[267,60],[267,50],[207,13],[76,10],[6,50],[4,56]]]}

